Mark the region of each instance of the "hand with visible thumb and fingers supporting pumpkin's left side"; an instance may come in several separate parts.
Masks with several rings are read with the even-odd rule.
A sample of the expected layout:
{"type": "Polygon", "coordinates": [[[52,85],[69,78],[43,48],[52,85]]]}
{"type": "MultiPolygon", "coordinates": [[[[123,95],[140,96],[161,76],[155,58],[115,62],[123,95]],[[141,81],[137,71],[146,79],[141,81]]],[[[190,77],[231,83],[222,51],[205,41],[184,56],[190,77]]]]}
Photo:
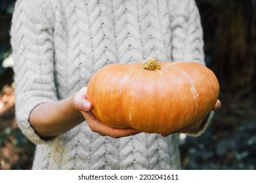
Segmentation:
{"type": "Polygon", "coordinates": [[[115,127],[110,127],[108,125],[103,124],[96,118],[96,116],[91,112],[93,105],[86,98],[87,88],[82,88],[79,92],[75,93],[74,96],[74,106],[77,110],[80,110],[85,119],[87,120],[87,124],[91,128],[91,130],[95,133],[98,133],[102,136],[110,136],[112,138],[119,137],[127,137],[130,135],[136,135],[140,133],[137,129],[126,128],[119,129],[115,127]]]}

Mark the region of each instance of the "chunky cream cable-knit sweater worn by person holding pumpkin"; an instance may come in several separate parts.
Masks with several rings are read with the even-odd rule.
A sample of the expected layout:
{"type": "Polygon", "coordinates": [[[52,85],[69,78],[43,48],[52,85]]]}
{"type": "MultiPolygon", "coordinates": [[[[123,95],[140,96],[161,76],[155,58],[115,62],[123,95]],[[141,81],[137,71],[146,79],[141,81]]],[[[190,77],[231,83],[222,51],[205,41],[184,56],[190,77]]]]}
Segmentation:
{"type": "Polygon", "coordinates": [[[16,118],[37,144],[33,169],[180,169],[177,135],[139,133],[112,139],[87,122],[44,141],[28,121],[32,109],[87,86],[104,65],[161,61],[204,64],[194,0],[18,0],[11,44],[16,118]]]}

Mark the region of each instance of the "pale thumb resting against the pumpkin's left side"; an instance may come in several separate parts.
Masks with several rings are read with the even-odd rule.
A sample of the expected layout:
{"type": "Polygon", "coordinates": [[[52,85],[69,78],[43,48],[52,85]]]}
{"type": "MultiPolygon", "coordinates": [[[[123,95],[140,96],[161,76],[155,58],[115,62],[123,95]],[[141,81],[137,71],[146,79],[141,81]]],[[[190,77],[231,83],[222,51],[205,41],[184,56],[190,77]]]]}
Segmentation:
{"type": "Polygon", "coordinates": [[[81,88],[79,92],[75,93],[74,105],[77,110],[89,111],[93,107],[90,101],[86,99],[87,88],[81,88]]]}

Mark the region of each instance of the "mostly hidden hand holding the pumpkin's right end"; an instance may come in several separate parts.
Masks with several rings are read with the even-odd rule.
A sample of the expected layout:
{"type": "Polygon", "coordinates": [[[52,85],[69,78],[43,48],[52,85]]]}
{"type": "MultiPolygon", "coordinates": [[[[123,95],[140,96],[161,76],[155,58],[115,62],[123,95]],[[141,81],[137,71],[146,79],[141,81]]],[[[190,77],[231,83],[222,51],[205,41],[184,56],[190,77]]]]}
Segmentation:
{"type": "MultiPolygon", "coordinates": [[[[213,110],[218,110],[219,108],[221,108],[221,101],[217,100],[213,110]]],[[[181,129],[177,132],[178,133],[193,133],[194,131],[198,131],[198,129],[200,129],[200,127],[202,127],[202,124],[205,122],[206,118],[207,118],[207,116],[205,116],[205,118],[203,118],[202,120],[199,120],[198,122],[196,122],[196,124],[190,125],[190,126],[184,128],[184,129],[181,129]]],[[[163,137],[167,137],[168,135],[170,135],[170,134],[161,134],[161,136],[163,136],[163,137]]]]}

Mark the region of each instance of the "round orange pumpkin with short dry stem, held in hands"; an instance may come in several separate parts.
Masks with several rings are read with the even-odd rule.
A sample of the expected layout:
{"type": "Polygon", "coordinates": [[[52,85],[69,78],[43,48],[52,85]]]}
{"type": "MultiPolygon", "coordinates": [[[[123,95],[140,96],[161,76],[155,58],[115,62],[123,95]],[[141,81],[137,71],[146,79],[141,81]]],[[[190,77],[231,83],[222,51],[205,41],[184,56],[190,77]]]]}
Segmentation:
{"type": "Polygon", "coordinates": [[[157,61],[102,67],[87,86],[93,114],[106,125],[175,133],[195,124],[219,97],[214,73],[200,63],[157,61]]]}

